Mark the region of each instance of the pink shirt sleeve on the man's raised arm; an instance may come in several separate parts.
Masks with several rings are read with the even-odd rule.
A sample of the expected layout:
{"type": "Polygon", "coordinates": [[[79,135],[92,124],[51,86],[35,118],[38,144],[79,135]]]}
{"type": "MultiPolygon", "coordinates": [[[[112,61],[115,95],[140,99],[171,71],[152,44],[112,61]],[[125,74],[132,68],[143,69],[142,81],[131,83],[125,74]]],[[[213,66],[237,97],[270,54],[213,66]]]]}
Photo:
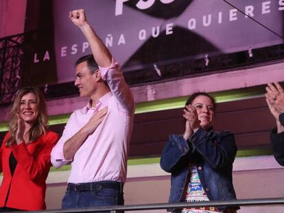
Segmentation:
{"type": "Polygon", "coordinates": [[[113,59],[112,64],[108,68],[99,67],[102,79],[108,83],[110,91],[116,97],[126,112],[134,112],[134,99],[132,92],[126,83],[121,67],[118,62],[113,59]]]}

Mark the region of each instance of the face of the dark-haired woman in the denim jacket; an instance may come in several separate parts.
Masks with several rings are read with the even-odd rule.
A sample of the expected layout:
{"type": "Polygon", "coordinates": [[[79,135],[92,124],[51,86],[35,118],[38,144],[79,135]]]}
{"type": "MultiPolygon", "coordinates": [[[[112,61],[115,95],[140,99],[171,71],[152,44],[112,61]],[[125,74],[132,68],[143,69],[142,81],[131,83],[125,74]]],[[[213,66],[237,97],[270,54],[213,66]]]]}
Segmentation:
{"type": "Polygon", "coordinates": [[[215,112],[214,104],[211,99],[204,95],[199,95],[191,104],[196,108],[200,126],[205,130],[209,129],[213,124],[215,112]]]}

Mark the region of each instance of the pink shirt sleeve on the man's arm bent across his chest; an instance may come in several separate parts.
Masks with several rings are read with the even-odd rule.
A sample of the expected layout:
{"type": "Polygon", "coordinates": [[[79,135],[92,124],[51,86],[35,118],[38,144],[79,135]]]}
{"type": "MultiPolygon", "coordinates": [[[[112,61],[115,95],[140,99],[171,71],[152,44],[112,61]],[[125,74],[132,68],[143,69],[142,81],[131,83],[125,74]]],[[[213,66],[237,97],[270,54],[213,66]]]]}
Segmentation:
{"type": "Polygon", "coordinates": [[[73,158],[71,160],[66,160],[64,158],[64,153],[63,153],[63,146],[64,143],[69,140],[69,138],[71,138],[73,136],[73,134],[76,133],[76,131],[72,131],[72,125],[73,125],[73,116],[74,113],[71,114],[69,121],[67,122],[67,124],[64,127],[64,131],[62,133],[61,138],[58,140],[56,146],[54,147],[54,149],[52,149],[51,151],[51,164],[55,167],[55,168],[60,168],[61,166],[64,166],[66,164],[68,164],[69,162],[73,161],[73,158]]]}

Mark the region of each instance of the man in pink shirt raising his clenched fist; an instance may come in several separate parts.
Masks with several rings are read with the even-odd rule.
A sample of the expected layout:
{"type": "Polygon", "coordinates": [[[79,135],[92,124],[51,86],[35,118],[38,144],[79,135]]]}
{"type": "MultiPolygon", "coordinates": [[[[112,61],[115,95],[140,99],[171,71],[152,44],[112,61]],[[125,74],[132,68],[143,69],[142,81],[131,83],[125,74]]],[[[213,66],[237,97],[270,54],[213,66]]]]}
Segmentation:
{"type": "Polygon", "coordinates": [[[71,114],[51,162],[71,163],[62,208],[123,205],[123,184],[134,116],[134,100],[120,66],[86,21],[84,10],[69,18],[91,47],[76,63],[75,86],[88,104],[71,114]]]}

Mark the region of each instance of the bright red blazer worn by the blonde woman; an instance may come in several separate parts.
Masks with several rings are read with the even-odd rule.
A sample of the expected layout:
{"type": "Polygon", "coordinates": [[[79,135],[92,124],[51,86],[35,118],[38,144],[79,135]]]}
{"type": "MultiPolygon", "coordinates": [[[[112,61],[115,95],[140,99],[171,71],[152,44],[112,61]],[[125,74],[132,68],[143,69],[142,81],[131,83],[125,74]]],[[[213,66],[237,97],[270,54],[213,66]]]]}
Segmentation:
{"type": "Polygon", "coordinates": [[[47,131],[38,140],[25,145],[22,142],[12,148],[6,148],[6,134],[0,149],[0,172],[3,171],[3,181],[0,186],[0,207],[16,208],[19,210],[45,210],[45,180],[51,166],[50,153],[56,145],[58,134],[47,131]],[[13,152],[18,164],[14,175],[11,176],[9,158],[13,152]]]}

